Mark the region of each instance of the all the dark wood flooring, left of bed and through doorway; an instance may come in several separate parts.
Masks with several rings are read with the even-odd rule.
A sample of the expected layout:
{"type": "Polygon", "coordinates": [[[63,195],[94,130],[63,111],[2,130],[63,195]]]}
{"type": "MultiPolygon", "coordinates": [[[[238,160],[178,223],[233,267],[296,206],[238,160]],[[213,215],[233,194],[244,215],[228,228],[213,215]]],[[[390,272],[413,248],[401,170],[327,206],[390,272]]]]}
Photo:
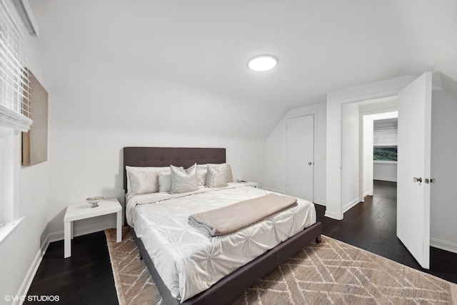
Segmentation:
{"type": "MultiPolygon", "coordinates": [[[[431,248],[431,269],[423,270],[396,237],[396,184],[375,181],[374,196],[344,214],[342,221],[316,205],[323,234],[401,264],[457,283],[457,254],[431,248]]],[[[29,296],[59,296],[59,304],[118,304],[104,232],[75,237],[64,259],[64,241],[49,245],[29,296]]],[[[27,302],[24,302],[27,303],[27,302]]]]}

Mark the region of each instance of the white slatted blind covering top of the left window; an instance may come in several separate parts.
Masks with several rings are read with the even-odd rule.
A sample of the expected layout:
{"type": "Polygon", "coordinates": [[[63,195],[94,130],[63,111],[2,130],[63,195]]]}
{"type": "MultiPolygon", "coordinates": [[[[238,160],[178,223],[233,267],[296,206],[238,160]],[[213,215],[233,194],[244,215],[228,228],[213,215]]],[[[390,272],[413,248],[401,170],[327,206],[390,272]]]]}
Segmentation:
{"type": "Polygon", "coordinates": [[[0,1],[0,125],[29,131],[30,87],[24,31],[16,11],[0,1]]]}

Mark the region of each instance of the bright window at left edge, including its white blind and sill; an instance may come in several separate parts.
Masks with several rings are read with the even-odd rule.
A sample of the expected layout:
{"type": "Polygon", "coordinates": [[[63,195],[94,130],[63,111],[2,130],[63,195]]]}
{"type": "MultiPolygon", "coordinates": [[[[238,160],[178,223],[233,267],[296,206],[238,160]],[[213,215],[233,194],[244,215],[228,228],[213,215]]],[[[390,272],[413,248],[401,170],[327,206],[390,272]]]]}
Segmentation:
{"type": "Polygon", "coordinates": [[[29,131],[26,33],[10,0],[0,1],[0,242],[21,221],[18,214],[20,131],[29,131]]]}

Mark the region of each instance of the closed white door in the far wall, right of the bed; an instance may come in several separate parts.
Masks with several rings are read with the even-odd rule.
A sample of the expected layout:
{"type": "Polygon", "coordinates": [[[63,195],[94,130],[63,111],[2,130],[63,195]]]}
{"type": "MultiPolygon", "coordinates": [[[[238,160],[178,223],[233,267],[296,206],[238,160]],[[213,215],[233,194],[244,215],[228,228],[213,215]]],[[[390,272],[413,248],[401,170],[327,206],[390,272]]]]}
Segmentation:
{"type": "Polygon", "coordinates": [[[287,119],[286,193],[313,201],[314,116],[287,119]]]}

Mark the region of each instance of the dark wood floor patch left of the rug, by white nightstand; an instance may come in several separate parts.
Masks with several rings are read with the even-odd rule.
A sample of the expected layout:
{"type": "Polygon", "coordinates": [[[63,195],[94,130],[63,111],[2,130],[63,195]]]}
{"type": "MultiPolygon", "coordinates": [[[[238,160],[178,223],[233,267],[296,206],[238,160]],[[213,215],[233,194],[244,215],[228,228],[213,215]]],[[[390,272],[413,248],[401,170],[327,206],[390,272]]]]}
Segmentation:
{"type": "Polygon", "coordinates": [[[75,237],[67,259],[64,241],[49,244],[27,295],[59,296],[56,304],[119,304],[104,232],[75,237]]]}

